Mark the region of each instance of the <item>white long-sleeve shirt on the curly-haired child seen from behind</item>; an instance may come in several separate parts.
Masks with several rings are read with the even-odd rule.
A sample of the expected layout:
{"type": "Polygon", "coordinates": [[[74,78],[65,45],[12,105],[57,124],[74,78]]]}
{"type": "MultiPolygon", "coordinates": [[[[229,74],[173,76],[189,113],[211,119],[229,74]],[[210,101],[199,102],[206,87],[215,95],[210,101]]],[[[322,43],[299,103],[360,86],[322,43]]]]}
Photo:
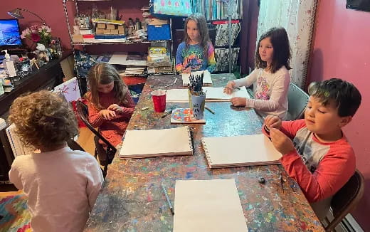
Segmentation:
{"type": "Polygon", "coordinates": [[[64,147],[14,159],[10,181],[28,196],[33,231],[83,231],[104,181],[96,159],[64,147]]]}

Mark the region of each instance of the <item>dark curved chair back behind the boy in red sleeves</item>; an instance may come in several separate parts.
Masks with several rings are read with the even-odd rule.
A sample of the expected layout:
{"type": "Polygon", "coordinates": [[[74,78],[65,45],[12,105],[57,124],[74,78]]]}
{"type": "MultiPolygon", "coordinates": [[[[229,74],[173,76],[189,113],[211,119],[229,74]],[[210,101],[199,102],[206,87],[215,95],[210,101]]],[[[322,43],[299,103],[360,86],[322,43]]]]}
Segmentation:
{"type": "Polygon", "coordinates": [[[333,196],[331,211],[334,219],[329,221],[327,217],[324,218],[327,223],[327,226],[324,226],[325,231],[334,231],[342,219],[356,208],[364,195],[364,186],[364,176],[356,169],[351,179],[333,196]]]}

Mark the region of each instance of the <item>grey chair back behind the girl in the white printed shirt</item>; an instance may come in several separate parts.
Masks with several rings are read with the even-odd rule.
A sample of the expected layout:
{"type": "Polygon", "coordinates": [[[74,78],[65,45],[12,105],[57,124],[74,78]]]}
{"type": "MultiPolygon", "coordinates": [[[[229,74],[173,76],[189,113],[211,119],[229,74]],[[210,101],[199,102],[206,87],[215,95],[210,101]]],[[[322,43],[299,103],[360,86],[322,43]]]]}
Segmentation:
{"type": "Polygon", "coordinates": [[[310,95],[294,83],[290,83],[287,92],[287,120],[298,120],[303,117],[310,95]]]}

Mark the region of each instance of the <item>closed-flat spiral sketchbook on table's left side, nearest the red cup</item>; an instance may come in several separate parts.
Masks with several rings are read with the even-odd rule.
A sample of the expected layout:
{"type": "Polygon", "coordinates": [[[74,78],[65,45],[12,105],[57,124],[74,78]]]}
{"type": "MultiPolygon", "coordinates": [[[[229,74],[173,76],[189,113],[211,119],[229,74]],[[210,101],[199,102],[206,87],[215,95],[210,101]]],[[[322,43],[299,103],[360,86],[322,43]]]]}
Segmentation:
{"type": "Polygon", "coordinates": [[[120,150],[122,159],[191,154],[193,145],[189,126],[161,130],[127,130],[120,150]]]}

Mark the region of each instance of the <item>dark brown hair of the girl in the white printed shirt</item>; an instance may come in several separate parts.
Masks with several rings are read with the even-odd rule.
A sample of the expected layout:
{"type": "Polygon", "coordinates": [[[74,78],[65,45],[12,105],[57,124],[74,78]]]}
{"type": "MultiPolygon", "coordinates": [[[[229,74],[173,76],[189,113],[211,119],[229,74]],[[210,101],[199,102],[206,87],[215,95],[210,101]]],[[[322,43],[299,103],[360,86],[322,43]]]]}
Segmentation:
{"type": "Polygon", "coordinates": [[[287,70],[290,70],[292,69],[289,65],[290,58],[289,38],[287,38],[287,31],[285,31],[284,28],[274,27],[263,33],[258,41],[257,49],[255,49],[255,68],[269,68],[271,73],[275,73],[282,67],[282,65],[284,65],[287,70]],[[259,47],[260,42],[269,37],[273,44],[274,52],[273,61],[271,62],[270,67],[267,67],[267,63],[260,57],[259,47]]]}

